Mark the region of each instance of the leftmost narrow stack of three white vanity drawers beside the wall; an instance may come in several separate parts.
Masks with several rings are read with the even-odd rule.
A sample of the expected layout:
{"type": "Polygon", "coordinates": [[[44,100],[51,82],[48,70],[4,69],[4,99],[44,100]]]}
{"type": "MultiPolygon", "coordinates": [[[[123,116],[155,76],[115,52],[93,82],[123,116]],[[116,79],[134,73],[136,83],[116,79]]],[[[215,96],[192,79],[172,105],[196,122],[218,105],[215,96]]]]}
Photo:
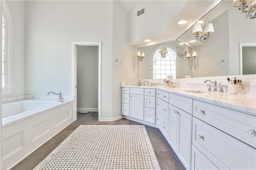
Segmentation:
{"type": "Polygon", "coordinates": [[[122,115],[130,116],[130,88],[122,87],[122,115]]]}

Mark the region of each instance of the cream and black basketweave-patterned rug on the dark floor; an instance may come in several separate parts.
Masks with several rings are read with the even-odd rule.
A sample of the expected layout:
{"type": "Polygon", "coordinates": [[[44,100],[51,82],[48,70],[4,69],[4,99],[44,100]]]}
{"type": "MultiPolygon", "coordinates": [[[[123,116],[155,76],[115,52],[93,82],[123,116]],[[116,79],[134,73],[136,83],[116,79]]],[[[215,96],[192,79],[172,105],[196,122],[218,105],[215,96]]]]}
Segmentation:
{"type": "Polygon", "coordinates": [[[159,170],[144,125],[80,125],[34,170],[159,170]]]}

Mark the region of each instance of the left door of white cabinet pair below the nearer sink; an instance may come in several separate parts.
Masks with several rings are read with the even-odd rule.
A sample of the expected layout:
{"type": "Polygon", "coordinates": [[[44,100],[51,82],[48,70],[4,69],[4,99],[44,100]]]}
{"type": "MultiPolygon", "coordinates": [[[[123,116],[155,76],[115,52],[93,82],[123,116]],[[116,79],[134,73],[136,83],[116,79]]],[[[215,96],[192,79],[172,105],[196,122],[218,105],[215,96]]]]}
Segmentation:
{"type": "Polygon", "coordinates": [[[172,146],[173,150],[177,150],[179,115],[178,115],[178,113],[176,113],[176,108],[170,104],[169,104],[169,118],[170,118],[169,143],[172,146]]]}

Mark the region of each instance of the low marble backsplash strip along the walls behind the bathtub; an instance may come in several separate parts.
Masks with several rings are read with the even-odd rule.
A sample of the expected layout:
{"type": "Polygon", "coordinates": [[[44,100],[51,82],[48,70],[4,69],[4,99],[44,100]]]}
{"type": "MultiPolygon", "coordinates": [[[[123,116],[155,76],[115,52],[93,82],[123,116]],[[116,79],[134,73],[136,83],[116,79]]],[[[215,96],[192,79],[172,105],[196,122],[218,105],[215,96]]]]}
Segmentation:
{"type": "MultiPolygon", "coordinates": [[[[62,96],[63,100],[74,100],[74,96],[62,96]]],[[[24,99],[47,99],[47,100],[56,100],[58,101],[58,95],[20,95],[13,97],[3,97],[2,103],[12,102],[12,101],[20,101],[24,99]]]]}

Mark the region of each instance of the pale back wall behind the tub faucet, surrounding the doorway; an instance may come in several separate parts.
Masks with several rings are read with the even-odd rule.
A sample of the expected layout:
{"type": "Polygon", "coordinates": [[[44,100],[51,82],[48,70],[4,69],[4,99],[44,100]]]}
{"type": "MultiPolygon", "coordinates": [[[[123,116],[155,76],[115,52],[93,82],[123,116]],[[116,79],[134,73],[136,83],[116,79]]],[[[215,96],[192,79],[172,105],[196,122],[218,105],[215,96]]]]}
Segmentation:
{"type": "Polygon", "coordinates": [[[74,95],[71,43],[100,41],[102,117],[111,118],[113,2],[26,1],[25,9],[25,94],[74,95]]]}

